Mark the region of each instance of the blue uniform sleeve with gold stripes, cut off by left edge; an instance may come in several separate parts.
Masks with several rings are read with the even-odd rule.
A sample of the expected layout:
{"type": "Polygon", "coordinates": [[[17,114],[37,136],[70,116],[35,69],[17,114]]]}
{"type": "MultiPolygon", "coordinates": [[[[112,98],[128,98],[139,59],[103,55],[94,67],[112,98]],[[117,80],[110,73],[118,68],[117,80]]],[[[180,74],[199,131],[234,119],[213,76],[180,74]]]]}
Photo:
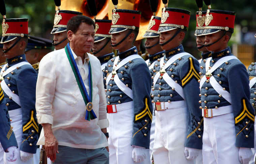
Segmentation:
{"type": "MultiPolygon", "coordinates": [[[[6,102],[4,99],[3,90],[0,85],[0,126],[1,126],[1,133],[0,133],[0,147],[3,148],[2,151],[5,151],[7,148],[11,146],[18,147],[18,143],[16,141],[14,132],[11,128],[10,118],[8,114],[8,109],[6,107],[6,102]]],[[[1,148],[0,148],[1,149],[1,148]]],[[[0,156],[0,164],[4,163],[4,157],[0,156]]]]}

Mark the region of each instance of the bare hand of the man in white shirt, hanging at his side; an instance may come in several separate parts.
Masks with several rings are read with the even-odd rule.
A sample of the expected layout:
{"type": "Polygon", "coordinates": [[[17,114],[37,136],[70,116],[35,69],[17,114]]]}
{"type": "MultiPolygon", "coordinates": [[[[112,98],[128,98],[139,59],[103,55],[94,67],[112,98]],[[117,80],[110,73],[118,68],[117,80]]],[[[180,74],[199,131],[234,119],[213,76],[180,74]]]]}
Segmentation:
{"type": "Polygon", "coordinates": [[[44,148],[46,151],[46,156],[54,162],[56,160],[56,153],[59,153],[59,142],[53,135],[51,124],[42,124],[42,126],[44,130],[44,148]]]}

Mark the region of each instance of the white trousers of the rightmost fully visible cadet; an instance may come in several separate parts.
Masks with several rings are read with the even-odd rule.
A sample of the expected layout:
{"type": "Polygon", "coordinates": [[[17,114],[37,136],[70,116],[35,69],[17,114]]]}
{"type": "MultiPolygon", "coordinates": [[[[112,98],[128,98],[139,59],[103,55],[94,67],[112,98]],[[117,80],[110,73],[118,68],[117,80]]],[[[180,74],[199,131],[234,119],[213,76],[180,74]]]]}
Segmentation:
{"type": "Polygon", "coordinates": [[[233,113],[204,118],[203,163],[241,164],[238,147],[235,147],[235,122],[233,113]]]}

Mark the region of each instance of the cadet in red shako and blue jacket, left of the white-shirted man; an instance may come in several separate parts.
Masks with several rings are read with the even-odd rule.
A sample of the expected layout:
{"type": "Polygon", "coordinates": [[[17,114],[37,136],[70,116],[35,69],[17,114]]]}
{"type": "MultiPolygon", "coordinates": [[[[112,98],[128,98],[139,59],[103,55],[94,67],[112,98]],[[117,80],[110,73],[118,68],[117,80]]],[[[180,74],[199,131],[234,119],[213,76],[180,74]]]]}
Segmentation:
{"type": "Polygon", "coordinates": [[[0,67],[0,81],[20,156],[13,163],[32,164],[38,140],[35,110],[37,73],[24,54],[28,42],[28,19],[4,18],[2,32],[1,43],[7,64],[0,67]]]}

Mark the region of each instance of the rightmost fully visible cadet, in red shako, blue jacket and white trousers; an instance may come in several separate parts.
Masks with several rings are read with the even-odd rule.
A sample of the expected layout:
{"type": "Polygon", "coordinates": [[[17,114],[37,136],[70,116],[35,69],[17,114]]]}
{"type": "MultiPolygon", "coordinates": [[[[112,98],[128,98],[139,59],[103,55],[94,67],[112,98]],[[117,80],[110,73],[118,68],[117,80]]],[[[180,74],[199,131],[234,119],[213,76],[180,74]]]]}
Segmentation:
{"type": "Polygon", "coordinates": [[[203,163],[247,164],[254,147],[254,109],[246,67],[231,53],[235,12],[207,10],[205,43],[212,58],[200,80],[203,163]]]}

